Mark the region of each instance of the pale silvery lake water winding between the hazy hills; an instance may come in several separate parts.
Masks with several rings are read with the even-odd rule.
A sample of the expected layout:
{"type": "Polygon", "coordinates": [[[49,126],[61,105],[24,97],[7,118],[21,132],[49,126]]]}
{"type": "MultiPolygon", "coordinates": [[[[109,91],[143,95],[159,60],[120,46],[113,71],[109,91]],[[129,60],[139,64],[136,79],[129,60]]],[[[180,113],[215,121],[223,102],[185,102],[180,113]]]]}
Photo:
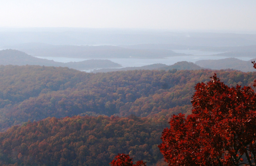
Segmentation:
{"type": "MultiPolygon", "coordinates": [[[[81,62],[84,60],[89,60],[85,58],[67,58],[67,57],[37,57],[42,59],[53,60],[55,62],[81,62]]],[[[188,61],[195,63],[198,60],[218,60],[218,59],[225,59],[228,57],[221,57],[221,56],[201,56],[201,55],[191,55],[191,56],[174,56],[174,57],[166,57],[166,58],[159,58],[159,59],[144,59],[144,58],[102,58],[108,59],[112,62],[121,64],[123,67],[141,67],[150,64],[166,64],[172,65],[180,61],[188,61]]],[[[235,57],[240,60],[249,61],[255,57],[235,57]]],[[[93,59],[93,58],[90,58],[93,59]]]]}

